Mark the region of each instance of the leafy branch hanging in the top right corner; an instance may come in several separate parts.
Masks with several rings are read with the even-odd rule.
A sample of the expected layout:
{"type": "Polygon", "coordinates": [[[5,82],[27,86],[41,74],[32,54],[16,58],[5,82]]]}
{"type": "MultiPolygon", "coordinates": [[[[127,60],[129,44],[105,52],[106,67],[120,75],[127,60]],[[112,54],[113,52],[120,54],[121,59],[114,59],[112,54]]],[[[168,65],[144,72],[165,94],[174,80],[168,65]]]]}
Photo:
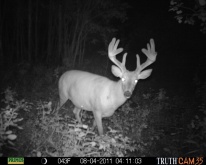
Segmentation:
{"type": "Polygon", "coordinates": [[[179,23],[194,25],[200,22],[200,31],[206,33],[205,0],[194,0],[193,3],[183,2],[183,0],[171,0],[169,11],[176,13],[174,18],[179,23]]]}

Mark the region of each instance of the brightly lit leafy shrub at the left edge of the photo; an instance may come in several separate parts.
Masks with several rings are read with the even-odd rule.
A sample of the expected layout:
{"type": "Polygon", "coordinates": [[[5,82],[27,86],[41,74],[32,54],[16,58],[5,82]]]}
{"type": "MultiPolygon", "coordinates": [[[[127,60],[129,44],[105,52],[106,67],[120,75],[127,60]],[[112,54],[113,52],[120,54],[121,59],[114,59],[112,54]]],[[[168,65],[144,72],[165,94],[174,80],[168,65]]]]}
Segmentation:
{"type": "MultiPolygon", "coordinates": [[[[25,100],[17,100],[17,94],[10,88],[4,91],[5,98],[1,101],[4,103],[4,108],[0,111],[0,150],[3,147],[15,149],[13,141],[17,138],[16,129],[22,130],[19,122],[23,118],[19,117],[20,110],[29,111],[31,106],[25,100]]],[[[0,156],[3,153],[0,152],[0,156]]]]}

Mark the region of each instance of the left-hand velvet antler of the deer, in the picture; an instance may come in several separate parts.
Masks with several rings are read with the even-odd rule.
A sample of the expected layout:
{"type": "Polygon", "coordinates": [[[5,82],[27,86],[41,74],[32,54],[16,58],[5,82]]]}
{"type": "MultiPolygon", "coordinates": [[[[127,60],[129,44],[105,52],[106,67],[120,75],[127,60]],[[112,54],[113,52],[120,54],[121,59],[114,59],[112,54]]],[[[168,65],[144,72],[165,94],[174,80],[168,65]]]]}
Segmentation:
{"type": "Polygon", "coordinates": [[[116,40],[116,38],[112,39],[108,47],[108,56],[114,64],[116,64],[121,70],[124,70],[127,53],[124,54],[122,63],[116,59],[116,55],[123,51],[123,48],[117,49],[119,41],[120,40],[116,40]]]}

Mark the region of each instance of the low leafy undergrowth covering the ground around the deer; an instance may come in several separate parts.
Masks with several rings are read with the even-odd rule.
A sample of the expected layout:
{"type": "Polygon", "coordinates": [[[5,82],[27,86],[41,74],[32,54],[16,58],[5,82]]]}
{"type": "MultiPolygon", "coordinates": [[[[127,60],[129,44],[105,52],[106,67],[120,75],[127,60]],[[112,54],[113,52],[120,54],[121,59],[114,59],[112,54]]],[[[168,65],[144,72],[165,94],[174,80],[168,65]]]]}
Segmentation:
{"type": "MultiPolygon", "coordinates": [[[[106,134],[100,137],[89,130],[93,122],[91,112],[82,113],[82,122],[87,125],[78,125],[72,118],[72,104],[65,108],[68,115],[53,114],[57,100],[57,80],[65,70],[57,68],[52,71],[40,66],[33,68],[33,92],[32,95],[28,93],[31,98],[37,99],[32,99],[32,111],[25,112],[31,109],[30,103],[16,99],[11,89],[4,92],[5,99],[1,106],[4,108],[1,108],[0,113],[0,150],[6,147],[18,148],[16,153],[23,156],[89,157],[193,156],[205,152],[204,79],[195,81],[196,98],[192,98],[194,107],[193,102],[179,95],[168,97],[165,89],[155,91],[141,88],[111,117],[103,119],[106,134]],[[41,74],[42,71],[44,74],[41,74]],[[51,96],[55,101],[46,101],[51,96]],[[23,120],[20,126],[22,118],[27,120],[23,120]],[[22,127],[24,129],[18,131],[22,127]],[[14,146],[14,143],[19,145],[14,146]]],[[[28,89],[27,85],[24,88],[28,89]]]]}

